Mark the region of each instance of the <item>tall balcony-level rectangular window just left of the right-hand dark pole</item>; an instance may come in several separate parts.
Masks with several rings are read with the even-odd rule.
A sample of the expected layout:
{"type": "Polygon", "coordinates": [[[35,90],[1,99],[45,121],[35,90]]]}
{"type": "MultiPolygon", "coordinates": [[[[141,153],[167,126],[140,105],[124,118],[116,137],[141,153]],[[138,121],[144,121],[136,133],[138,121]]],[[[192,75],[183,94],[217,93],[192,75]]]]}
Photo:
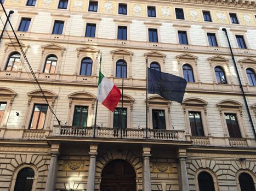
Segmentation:
{"type": "Polygon", "coordinates": [[[225,114],[227,130],[231,138],[242,138],[236,114],[225,114]]]}

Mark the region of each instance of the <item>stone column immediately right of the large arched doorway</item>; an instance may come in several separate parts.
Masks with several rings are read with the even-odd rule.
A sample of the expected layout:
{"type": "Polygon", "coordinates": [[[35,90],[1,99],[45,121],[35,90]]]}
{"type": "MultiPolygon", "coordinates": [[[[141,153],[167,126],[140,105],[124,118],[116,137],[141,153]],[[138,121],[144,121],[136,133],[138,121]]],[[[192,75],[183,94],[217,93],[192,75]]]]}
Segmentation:
{"type": "Polygon", "coordinates": [[[151,191],[150,146],[143,146],[143,191],[151,191]]]}

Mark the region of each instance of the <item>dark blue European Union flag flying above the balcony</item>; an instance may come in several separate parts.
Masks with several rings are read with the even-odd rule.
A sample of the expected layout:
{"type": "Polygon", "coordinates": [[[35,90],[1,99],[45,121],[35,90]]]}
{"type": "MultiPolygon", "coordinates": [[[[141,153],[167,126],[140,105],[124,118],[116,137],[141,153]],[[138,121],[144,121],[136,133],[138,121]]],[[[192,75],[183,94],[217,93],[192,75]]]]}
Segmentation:
{"type": "Polygon", "coordinates": [[[187,82],[179,76],[148,68],[149,93],[156,93],[165,99],[182,103],[187,82]]]}

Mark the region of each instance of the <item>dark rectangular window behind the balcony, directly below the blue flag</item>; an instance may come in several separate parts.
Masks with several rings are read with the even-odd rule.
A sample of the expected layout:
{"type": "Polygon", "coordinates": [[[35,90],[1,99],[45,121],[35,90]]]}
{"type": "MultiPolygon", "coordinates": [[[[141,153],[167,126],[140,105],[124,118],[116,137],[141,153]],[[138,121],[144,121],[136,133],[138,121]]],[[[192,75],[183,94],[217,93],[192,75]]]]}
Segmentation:
{"type": "Polygon", "coordinates": [[[153,129],[166,129],[164,110],[152,110],[153,129]]]}

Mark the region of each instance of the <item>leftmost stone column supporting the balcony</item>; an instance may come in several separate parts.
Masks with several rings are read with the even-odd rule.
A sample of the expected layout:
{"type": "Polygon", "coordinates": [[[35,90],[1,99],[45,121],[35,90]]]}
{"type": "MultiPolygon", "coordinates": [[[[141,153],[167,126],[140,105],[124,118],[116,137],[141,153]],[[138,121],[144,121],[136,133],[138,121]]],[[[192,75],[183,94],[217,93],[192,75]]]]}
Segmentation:
{"type": "Polygon", "coordinates": [[[50,156],[50,165],[48,169],[48,176],[45,185],[45,190],[54,191],[55,190],[55,182],[58,172],[58,156],[59,156],[59,144],[52,144],[51,147],[51,156],[50,156]]]}

